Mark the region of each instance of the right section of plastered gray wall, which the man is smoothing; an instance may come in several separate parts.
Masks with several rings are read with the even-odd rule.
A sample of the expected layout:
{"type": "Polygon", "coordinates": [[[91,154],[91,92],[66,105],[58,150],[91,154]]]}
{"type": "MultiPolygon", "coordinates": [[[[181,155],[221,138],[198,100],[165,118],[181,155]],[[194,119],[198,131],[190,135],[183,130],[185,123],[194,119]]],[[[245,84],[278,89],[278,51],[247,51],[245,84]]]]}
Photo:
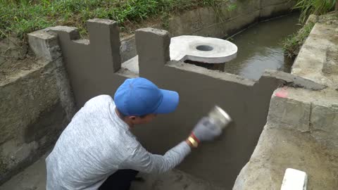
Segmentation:
{"type": "Polygon", "coordinates": [[[137,49],[140,75],[180,94],[175,113],[160,115],[151,125],[135,129],[139,139],[149,150],[164,153],[187,137],[212,106],[225,108],[234,120],[232,125],[218,141],[203,144],[180,165],[181,170],[225,189],[232,188],[256,146],[274,89],[283,84],[315,86],[284,72],[265,72],[258,82],[253,82],[195,65],[168,62],[170,38],[164,30],[137,30],[136,42],[140,47],[137,49]]]}

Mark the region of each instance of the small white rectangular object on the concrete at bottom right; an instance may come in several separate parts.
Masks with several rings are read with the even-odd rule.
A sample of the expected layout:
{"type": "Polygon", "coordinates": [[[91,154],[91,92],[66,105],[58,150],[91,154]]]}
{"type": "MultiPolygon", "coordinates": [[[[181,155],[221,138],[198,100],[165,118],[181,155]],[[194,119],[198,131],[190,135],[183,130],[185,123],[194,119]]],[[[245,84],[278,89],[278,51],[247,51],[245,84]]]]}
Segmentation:
{"type": "Polygon", "coordinates": [[[280,190],[306,190],[307,183],[306,172],[287,168],[280,190]]]}

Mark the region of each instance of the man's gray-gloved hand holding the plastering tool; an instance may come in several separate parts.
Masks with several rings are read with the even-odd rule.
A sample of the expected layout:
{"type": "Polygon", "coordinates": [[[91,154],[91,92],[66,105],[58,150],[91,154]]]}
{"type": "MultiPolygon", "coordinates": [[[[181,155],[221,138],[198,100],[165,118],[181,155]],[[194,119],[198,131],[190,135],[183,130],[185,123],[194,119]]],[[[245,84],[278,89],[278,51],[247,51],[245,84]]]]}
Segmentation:
{"type": "Polygon", "coordinates": [[[206,117],[199,120],[192,130],[192,135],[196,137],[198,141],[211,141],[220,136],[222,129],[216,126],[206,117]]]}

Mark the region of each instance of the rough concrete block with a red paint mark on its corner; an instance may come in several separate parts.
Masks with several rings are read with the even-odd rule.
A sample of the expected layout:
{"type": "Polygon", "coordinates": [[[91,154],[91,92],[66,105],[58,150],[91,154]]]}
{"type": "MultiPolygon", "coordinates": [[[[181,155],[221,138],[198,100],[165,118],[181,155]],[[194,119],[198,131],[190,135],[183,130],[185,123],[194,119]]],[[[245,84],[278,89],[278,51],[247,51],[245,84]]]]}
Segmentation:
{"type": "Polygon", "coordinates": [[[280,90],[277,89],[271,98],[268,124],[308,132],[311,103],[276,96],[280,90]]]}

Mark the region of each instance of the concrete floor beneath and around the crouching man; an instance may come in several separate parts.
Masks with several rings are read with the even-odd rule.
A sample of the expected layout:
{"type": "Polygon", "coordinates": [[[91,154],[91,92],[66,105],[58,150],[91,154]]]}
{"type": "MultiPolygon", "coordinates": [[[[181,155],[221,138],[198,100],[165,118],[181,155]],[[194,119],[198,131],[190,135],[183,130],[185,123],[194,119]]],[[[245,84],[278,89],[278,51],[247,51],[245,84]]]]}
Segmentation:
{"type": "MultiPolygon", "coordinates": [[[[47,154],[48,155],[48,154],[47,154]]],[[[46,168],[44,159],[46,155],[37,160],[36,163],[27,167],[23,172],[12,177],[8,182],[0,186],[0,190],[44,190],[46,189],[46,168]]],[[[130,190],[218,190],[210,182],[196,179],[179,170],[173,170],[163,175],[140,174],[145,182],[133,182],[130,190]]]]}

